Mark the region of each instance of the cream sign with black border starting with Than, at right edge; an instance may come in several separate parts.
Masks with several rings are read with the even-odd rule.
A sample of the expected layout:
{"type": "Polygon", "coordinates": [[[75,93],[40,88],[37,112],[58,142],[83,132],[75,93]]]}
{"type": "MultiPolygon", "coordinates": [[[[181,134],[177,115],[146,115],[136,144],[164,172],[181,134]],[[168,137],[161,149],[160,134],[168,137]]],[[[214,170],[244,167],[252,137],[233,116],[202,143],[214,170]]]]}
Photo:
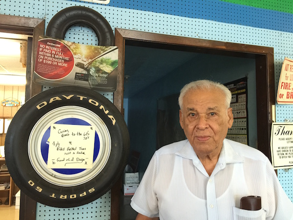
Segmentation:
{"type": "Polygon", "coordinates": [[[274,169],[293,168],[292,123],[272,123],[271,153],[274,169]]]}

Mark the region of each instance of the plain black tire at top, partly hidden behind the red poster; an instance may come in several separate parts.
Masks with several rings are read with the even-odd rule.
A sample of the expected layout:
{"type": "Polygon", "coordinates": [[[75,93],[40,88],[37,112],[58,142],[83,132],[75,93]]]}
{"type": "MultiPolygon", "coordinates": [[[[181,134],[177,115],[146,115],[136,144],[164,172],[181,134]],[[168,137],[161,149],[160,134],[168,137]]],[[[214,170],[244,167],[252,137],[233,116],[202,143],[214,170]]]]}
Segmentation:
{"type": "Polygon", "coordinates": [[[77,23],[90,26],[99,39],[99,45],[114,45],[113,30],[107,20],[97,11],[83,6],[67,7],[54,15],[48,23],[46,36],[64,39],[68,28],[77,23]]]}

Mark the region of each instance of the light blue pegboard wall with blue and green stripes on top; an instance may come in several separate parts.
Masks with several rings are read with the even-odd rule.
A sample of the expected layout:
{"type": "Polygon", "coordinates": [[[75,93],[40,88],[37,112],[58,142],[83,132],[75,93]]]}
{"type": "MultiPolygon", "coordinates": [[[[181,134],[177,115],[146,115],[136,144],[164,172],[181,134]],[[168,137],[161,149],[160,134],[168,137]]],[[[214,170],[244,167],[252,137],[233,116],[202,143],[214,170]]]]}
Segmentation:
{"type": "MultiPolygon", "coordinates": [[[[275,88],[278,86],[282,62],[293,59],[293,11],[288,0],[110,0],[107,5],[77,0],[0,0],[0,14],[45,19],[66,7],[90,7],[114,28],[124,28],[167,35],[200,38],[239,44],[252,44],[274,48],[275,88]],[[276,3],[277,2],[277,3],[276,3]]],[[[71,27],[65,40],[83,44],[98,44],[97,36],[89,27],[71,27]]],[[[110,95],[111,96],[111,95],[110,95]]],[[[293,118],[292,105],[276,105],[278,122],[293,118]]],[[[268,146],[269,147],[269,146],[268,146]]],[[[292,197],[292,171],[278,171],[278,178],[292,197]]],[[[84,209],[92,209],[92,204],[84,209]]],[[[99,207],[94,204],[95,209],[99,207]]],[[[38,207],[38,212],[50,213],[50,207],[38,207]],[[42,210],[42,211],[41,211],[42,210]]],[[[57,212],[65,216],[39,216],[38,220],[84,219],[84,210],[69,209],[57,212]],[[83,213],[83,214],[82,214],[83,213]]],[[[51,212],[53,213],[53,212],[51,212]]],[[[103,217],[86,217],[108,219],[103,217]]]]}

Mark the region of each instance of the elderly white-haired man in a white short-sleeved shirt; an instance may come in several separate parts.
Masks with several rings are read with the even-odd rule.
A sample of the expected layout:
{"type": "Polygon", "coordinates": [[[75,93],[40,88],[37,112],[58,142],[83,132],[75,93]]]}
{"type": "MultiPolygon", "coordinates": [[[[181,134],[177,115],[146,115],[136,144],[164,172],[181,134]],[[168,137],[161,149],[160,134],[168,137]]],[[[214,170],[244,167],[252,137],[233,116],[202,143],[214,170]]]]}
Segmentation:
{"type": "Polygon", "coordinates": [[[200,80],[182,88],[180,125],[187,140],[153,155],[131,206],[136,220],[293,220],[293,203],[269,159],[225,139],[232,126],[231,93],[200,80]],[[259,210],[240,209],[242,197],[261,197],[259,210]]]}

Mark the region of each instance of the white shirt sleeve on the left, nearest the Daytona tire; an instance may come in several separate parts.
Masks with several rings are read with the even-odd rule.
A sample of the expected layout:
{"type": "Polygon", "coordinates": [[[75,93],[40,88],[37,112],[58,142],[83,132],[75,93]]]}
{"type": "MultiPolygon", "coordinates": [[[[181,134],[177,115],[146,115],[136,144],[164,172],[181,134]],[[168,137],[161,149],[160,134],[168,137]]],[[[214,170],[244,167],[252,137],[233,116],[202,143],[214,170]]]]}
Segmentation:
{"type": "Polygon", "coordinates": [[[154,192],[156,167],[157,157],[154,154],[130,203],[136,212],[149,218],[159,217],[158,199],[154,192]]]}

